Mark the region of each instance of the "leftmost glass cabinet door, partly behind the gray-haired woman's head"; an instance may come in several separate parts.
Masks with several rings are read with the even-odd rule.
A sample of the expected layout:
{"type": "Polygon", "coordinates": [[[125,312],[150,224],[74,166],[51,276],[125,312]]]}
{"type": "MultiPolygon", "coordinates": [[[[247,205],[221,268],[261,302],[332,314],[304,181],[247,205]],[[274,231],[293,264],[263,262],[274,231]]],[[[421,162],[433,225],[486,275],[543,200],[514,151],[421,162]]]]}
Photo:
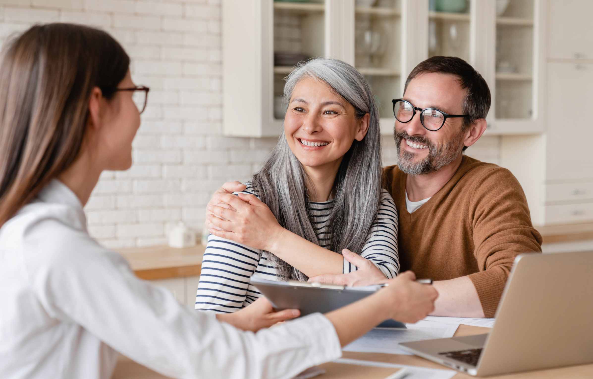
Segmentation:
{"type": "Polygon", "coordinates": [[[276,120],[283,120],[286,104],[282,102],[284,79],[294,65],[313,57],[326,56],[325,9],[320,1],[274,1],[274,102],[276,120]]]}

